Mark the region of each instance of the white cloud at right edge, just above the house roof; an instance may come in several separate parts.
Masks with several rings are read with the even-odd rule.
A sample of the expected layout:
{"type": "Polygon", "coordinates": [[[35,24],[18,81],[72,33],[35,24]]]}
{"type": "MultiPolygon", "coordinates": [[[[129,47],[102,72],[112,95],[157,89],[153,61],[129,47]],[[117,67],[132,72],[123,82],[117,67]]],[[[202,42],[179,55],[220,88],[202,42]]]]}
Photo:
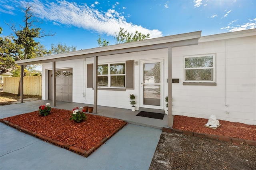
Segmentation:
{"type": "Polygon", "coordinates": [[[238,22],[238,20],[234,20],[234,21],[230,22],[227,27],[220,28],[220,29],[222,29],[222,30],[226,29],[229,32],[234,32],[234,31],[250,30],[250,29],[256,28],[256,18],[250,19],[249,22],[244,23],[242,25],[238,24],[236,26],[233,26],[233,24],[236,22],[238,22]]]}

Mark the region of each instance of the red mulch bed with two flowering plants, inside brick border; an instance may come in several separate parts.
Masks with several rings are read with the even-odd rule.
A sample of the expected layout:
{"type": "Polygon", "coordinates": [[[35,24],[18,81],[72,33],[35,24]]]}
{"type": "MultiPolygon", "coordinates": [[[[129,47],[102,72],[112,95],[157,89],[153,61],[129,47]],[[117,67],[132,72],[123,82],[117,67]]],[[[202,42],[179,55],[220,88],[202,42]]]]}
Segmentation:
{"type": "Polygon", "coordinates": [[[86,114],[86,121],[76,123],[69,120],[71,114],[72,111],[52,108],[50,115],[46,117],[34,111],[3,120],[82,150],[94,147],[126,123],[119,119],[92,114],[86,114]]]}

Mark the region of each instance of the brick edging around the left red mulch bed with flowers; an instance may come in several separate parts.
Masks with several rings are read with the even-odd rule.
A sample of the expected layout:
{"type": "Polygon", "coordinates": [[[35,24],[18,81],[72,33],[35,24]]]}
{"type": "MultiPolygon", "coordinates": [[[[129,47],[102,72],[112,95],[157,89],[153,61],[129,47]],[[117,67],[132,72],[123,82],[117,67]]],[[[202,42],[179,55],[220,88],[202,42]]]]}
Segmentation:
{"type": "Polygon", "coordinates": [[[42,134],[39,134],[39,133],[36,133],[36,132],[33,132],[32,130],[28,130],[26,128],[23,128],[23,127],[20,127],[18,125],[15,125],[9,121],[6,121],[4,119],[0,119],[0,122],[10,126],[10,127],[13,127],[13,128],[16,128],[17,130],[21,131],[21,132],[24,132],[26,134],[29,134],[31,136],[34,136],[36,138],[39,138],[40,140],[44,140],[45,142],[49,142],[51,144],[54,144],[56,146],[59,146],[61,148],[64,148],[66,150],[70,150],[76,154],[79,154],[81,156],[85,156],[86,158],[88,156],[90,156],[90,154],[92,154],[96,149],[98,149],[102,144],[104,144],[109,138],[111,138],[114,134],[116,134],[116,132],[118,132],[120,129],[122,129],[126,124],[127,122],[124,122],[119,128],[117,128],[116,130],[114,130],[111,134],[109,134],[107,137],[105,137],[104,139],[102,139],[100,142],[98,142],[96,145],[94,145],[92,148],[90,148],[89,150],[83,150],[83,149],[80,149],[80,148],[77,148],[75,146],[71,146],[69,144],[66,144],[66,143],[63,143],[63,142],[60,142],[58,140],[55,140],[55,139],[52,139],[52,138],[49,138],[47,136],[44,136],[42,134]]]}

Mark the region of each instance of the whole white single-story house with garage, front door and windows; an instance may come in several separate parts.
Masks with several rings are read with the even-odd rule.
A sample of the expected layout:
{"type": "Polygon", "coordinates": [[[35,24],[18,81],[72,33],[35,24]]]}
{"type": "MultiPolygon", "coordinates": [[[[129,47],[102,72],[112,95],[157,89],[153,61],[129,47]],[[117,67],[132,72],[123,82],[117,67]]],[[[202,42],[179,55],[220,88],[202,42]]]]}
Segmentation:
{"type": "Polygon", "coordinates": [[[42,63],[43,100],[130,109],[133,93],[137,110],[168,109],[169,127],[173,115],[256,125],[256,29],[192,32],[16,63],[42,63]],[[166,96],[173,99],[169,108],[166,96]]]}

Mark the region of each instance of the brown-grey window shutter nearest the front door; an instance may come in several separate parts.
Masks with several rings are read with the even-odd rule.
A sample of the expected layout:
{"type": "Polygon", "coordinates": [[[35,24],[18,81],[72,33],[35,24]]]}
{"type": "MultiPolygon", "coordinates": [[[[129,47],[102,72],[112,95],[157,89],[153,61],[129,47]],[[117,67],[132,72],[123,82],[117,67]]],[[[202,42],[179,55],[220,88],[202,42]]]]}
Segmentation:
{"type": "Polygon", "coordinates": [[[125,62],[126,66],[126,89],[134,90],[134,60],[129,60],[125,62]]]}

